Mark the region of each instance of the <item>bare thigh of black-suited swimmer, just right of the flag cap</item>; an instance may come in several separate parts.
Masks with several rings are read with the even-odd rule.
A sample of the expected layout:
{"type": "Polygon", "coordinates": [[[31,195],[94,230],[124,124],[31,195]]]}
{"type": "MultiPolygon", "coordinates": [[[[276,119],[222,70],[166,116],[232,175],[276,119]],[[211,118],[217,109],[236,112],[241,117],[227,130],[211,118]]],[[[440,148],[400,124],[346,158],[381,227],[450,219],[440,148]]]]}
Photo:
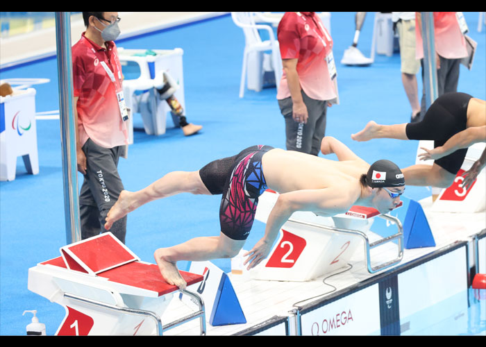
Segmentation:
{"type": "Polygon", "coordinates": [[[403,176],[405,176],[406,185],[421,187],[447,188],[453,183],[455,178],[454,174],[451,174],[435,163],[432,166],[415,164],[406,167],[402,172],[403,176]]]}

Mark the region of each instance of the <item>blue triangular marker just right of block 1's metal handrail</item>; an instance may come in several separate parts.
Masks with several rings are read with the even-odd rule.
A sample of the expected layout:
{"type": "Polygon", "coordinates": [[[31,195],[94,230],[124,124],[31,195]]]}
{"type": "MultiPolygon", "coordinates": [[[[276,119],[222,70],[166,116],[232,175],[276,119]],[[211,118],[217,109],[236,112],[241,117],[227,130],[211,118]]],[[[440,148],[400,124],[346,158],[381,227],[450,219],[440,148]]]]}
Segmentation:
{"type": "Polygon", "coordinates": [[[209,323],[213,326],[246,323],[240,301],[226,273],[221,276],[209,323]]]}

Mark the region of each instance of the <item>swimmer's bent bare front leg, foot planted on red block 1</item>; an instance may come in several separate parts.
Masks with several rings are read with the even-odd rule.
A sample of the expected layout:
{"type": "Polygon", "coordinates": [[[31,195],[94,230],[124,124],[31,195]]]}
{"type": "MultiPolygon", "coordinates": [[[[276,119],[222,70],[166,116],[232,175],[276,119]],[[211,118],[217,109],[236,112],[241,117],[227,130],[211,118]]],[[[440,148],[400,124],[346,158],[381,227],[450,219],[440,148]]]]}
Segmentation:
{"type": "Polygon", "coordinates": [[[170,285],[180,289],[186,287],[186,282],[177,269],[176,263],[181,260],[203,262],[212,259],[234,257],[242,249],[244,240],[233,240],[222,232],[215,237],[196,237],[183,244],[167,248],[158,248],[153,253],[162,277],[170,285]]]}

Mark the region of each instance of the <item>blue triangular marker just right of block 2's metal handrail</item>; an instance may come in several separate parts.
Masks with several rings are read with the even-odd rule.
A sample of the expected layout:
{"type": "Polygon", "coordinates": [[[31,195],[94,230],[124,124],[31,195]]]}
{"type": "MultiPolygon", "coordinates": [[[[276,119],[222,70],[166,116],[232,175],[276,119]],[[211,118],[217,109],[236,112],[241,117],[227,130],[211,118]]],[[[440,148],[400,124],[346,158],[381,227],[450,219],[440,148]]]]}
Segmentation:
{"type": "Polygon", "coordinates": [[[424,210],[417,201],[411,199],[403,222],[403,241],[407,249],[435,246],[424,210]]]}

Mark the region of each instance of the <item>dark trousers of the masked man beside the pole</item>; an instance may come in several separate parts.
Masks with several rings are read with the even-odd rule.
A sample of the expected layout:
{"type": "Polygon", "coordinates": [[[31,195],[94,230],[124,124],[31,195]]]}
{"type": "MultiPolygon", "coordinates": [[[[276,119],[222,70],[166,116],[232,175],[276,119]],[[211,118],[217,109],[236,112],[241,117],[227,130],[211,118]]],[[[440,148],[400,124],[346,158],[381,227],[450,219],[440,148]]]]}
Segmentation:
{"type": "Polygon", "coordinates": [[[110,231],[125,243],[126,216],[113,223],[110,230],[104,227],[106,214],[124,189],[117,169],[119,157],[124,155],[124,151],[125,146],[106,149],[91,139],[87,139],[83,146],[87,170],[79,193],[82,239],[110,231]]]}

